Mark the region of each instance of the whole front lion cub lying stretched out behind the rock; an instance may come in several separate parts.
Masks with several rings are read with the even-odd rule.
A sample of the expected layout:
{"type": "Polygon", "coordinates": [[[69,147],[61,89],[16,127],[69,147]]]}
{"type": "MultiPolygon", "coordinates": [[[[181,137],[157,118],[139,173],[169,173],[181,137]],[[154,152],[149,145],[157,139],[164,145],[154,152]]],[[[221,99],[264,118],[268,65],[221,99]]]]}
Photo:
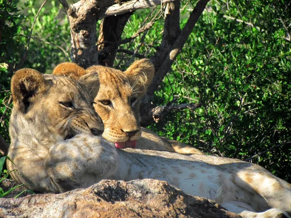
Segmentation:
{"type": "MultiPolygon", "coordinates": [[[[86,76],[86,75],[85,75],[86,76]]],[[[90,77],[42,75],[22,69],[12,78],[14,108],[7,163],[18,183],[40,192],[89,187],[101,179],[152,178],[206,197],[244,218],[289,217],[291,185],[241,160],[127,148],[102,133],[90,96],[90,77]],[[285,212],[284,212],[285,211],[285,212]]]]}

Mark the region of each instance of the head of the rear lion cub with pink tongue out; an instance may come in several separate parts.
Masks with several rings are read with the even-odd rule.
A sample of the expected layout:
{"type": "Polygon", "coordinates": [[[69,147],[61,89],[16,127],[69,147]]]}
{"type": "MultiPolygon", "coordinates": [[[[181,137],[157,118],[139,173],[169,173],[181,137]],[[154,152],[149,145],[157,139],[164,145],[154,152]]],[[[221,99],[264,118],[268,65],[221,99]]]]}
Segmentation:
{"type": "MultiPolygon", "coordinates": [[[[66,69],[68,64],[61,63],[57,67],[66,69]]],[[[67,68],[70,72],[63,70],[63,73],[66,76],[76,75],[76,72],[82,71],[80,68],[71,63],[67,68]],[[72,73],[73,66],[76,69],[72,73]]],[[[136,140],[141,137],[140,98],[154,76],[153,64],[148,59],[142,59],[135,61],[124,72],[100,65],[85,71],[86,75],[98,74],[98,85],[89,91],[96,96],[94,108],[104,123],[102,137],[113,142],[117,148],[135,147],[136,140]]],[[[54,74],[59,73],[54,70],[54,74]]]]}

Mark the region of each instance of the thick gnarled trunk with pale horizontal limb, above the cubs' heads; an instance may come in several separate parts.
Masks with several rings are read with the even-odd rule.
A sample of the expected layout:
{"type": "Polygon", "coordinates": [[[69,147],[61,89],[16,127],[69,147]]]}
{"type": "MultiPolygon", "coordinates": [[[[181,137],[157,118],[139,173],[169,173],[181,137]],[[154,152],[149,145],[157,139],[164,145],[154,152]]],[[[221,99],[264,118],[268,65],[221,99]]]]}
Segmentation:
{"type": "MultiPolygon", "coordinates": [[[[66,11],[71,29],[72,61],[84,68],[98,64],[98,55],[100,53],[98,53],[96,47],[97,20],[107,16],[123,15],[137,9],[149,8],[169,1],[173,0],[126,0],[117,4],[116,0],[80,0],[72,4],[66,11]]],[[[61,0],[61,3],[65,8],[67,7],[65,0],[61,0]]],[[[109,20],[112,19],[113,18],[109,18],[109,20]]],[[[108,21],[104,22],[108,23],[108,21]]],[[[124,25],[122,22],[120,25],[120,30],[123,30],[124,25]]],[[[106,28],[108,28],[108,26],[106,28]]],[[[119,32],[120,30],[116,31],[119,32]]],[[[118,36],[118,34],[115,36],[118,36]]],[[[107,52],[116,53],[116,47],[110,48],[107,52]]],[[[113,58],[114,57],[115,56],[113,56],[113,58]]],[[[109,63],[109,65],[110,64],[111,63],[109,63]]]]}

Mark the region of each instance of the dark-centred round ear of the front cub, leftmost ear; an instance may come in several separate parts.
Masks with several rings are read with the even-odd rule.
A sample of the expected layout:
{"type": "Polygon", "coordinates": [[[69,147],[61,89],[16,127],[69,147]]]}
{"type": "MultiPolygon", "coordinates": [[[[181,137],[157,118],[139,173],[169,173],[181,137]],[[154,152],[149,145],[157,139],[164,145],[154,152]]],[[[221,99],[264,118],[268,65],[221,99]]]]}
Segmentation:
{"type": "Polygon", "coordinates": [[[17,70],[11,79],[11,92],[14,107],[26,112],[31,98],[46,87],[46,80],[37,70],[24,68],[17,70]]]}

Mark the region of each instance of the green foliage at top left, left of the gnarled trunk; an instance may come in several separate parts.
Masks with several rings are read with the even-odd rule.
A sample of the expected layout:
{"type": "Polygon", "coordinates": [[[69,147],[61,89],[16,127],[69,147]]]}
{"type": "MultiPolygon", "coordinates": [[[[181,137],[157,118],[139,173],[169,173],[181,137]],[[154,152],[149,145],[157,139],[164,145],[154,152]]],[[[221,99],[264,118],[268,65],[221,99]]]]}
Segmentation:
{"type": "Polygon", "coordinates": [[[9,87],[13,73],[22,67],[51,73],[59,62],[69,60],[70,31],[67,19],[58,18],[61,5],[55,0],[49,1],[34,21],[38,10],[35,3],[35,0],[0,1],[0,134],[7,142],[12,108],[9,87]]]}

